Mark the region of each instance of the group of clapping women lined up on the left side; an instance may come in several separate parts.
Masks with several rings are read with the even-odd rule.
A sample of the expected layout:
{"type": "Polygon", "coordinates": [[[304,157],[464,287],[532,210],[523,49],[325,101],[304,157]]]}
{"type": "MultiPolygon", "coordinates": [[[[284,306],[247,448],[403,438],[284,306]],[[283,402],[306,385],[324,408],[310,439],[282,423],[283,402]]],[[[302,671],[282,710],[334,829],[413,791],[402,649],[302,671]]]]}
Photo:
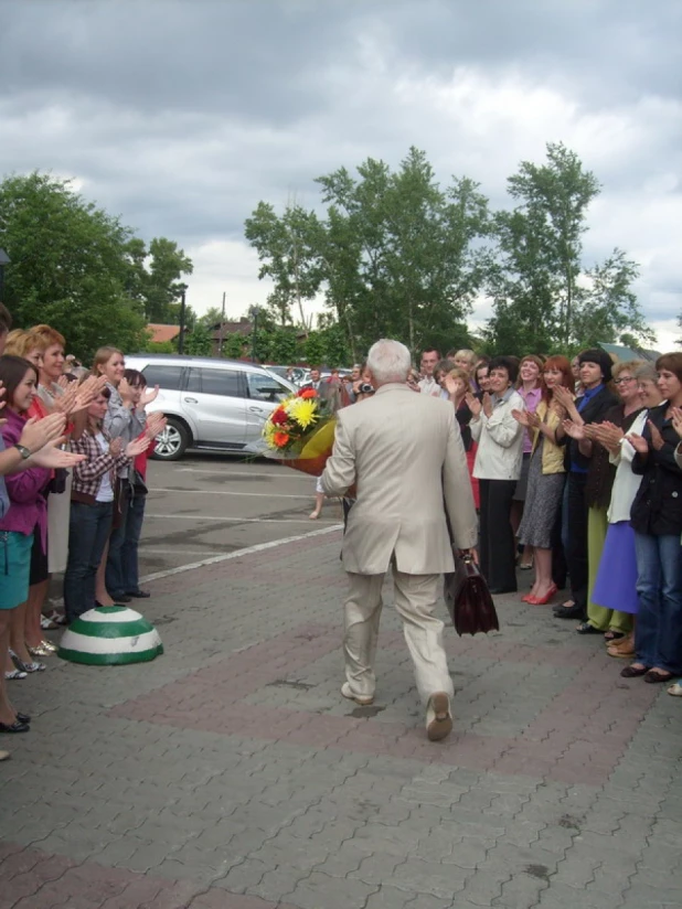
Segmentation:
{"type": "Polygon", "coordinates": [[[65,372],[64,347],[50,325],[11,331],[0,304],[0,732],[31,728],[8,687],[46,669],[56,648],[45,627],[149,596],[138,544],[147,458],[166,425],[145,413],[158,388],[111,346],[90,371],[65,372]],[[46,619],[53,573],[63,574],[64,614],[46,619]]]}

